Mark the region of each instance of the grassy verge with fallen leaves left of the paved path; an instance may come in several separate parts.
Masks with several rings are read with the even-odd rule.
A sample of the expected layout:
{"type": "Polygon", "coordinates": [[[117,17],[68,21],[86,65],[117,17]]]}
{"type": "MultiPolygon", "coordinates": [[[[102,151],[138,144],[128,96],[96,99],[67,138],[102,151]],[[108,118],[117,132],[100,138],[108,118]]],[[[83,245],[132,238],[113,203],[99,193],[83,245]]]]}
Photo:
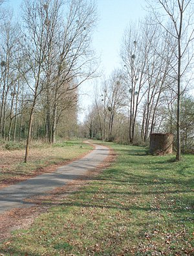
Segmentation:
{"type": "Polygon", "coordinates": [[[43,168],[68,162],[89,152],[91,146],[74,140],[59,142],[53,145],[34,142],[30,148],[28,163],[24,163],[25,149],[0,149],[0,186],[19,181],[34,173],[38,174],[43,168]]]}

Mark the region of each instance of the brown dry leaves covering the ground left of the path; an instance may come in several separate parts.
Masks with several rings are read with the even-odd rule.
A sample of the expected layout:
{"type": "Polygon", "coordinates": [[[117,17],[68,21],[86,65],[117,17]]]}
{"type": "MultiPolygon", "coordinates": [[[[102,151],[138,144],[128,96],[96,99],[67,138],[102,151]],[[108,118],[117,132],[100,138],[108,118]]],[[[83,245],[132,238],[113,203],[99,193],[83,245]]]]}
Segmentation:
{"type": "Polygon", "coordinates": [[[67,153],[65,149],[59,147],[35,148],[30,150],[28,165],[21,165],[25,155],[24,150],[0,150],[0,189],[20,181],[25,181],[30,177],[35,177],[42,173],[54,172],[59,166],[69,164],[72,160],[80,159],[87,155],[89,151],[69,160],[71,153],[72,152],[67,153]],[[64,158],[64,155],[66,159],[61,160],[64,158]],[[52,159],[58,161],[58,163],[50,165],[49,162],[52,163],[52,159]],[[41,164],[37,164],[38,161],[41,161],[41,164],[44,164],[45,167],[41,167],[41,164]]]}

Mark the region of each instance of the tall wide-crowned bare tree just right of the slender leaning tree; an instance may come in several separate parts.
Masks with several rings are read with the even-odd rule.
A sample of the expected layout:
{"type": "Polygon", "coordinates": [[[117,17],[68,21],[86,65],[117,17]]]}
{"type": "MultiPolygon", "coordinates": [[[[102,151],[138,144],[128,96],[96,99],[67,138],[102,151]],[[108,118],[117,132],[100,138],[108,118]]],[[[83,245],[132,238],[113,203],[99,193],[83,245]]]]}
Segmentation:
{"type": "MultiPolygon", "coordinates": [[[[92,1],[71,0],[50,1],[45,8],[48,34],[48,54],[45,70],[47,73],[46,89],[46,131],[48,142],[54,143],[58,116],[67,109],[61,107],[64,98],[76,104],[74,92],[94,74],[94,54],[90,47],[91,33],[96,22],[96,8],[92,1]],[[58,6],[56,6],[58,3],[58,6]],[[52,7],[52,5],[54,7],[52,7]],[[65,7],[67,15],[61,16],[65,7]]],[[[68,101],[70,102],[70,101],[68,101]]]]}

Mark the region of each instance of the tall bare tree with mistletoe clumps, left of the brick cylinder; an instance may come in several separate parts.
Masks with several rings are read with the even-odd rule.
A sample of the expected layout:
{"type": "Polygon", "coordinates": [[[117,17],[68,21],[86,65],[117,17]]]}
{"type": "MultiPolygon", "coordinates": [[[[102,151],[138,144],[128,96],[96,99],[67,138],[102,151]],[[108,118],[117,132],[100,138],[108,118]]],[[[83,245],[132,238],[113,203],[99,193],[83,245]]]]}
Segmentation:
{"type": "Polygon", "coordinates": [[[129,142],[135,139],[136,118],[143,99],[143,88],[147,81],[147,58],[151,49],[148,33],[142,24],[131,24],[125,31],[121,49],[124,63],[125,94],[129,100],[129,142]]]}

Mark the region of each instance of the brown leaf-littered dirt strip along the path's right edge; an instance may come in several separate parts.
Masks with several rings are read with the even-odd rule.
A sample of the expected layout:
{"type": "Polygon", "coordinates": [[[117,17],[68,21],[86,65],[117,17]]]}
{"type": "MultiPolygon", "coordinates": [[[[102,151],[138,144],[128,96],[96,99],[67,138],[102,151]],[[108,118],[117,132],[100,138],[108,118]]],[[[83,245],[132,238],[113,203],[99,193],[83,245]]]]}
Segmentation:
{"type": "MultiPolygon", "coordinates": [[[[72,192],[78,191],[81,187],[89,185],[103,169],[108,168],[116,159],[116,153],[110,149],[109,156],[95,170],[87,172],[87,175],[76,179],[65,186],[56,188],[48,192],[46,196],[37,196],[28,199],[28,203],[35,206],[23,209],[12,209],[12,211],[0,214],[0,242],[9,238],[11,232],[16,229],[26,229],[32,225],[34,219],[43,212],[47,212],[50,207],[60,205],[63,199],[67,198],[72,192]]],[[[52,172],[59,164],[46,168],[47,172],[52,172]]]]}

